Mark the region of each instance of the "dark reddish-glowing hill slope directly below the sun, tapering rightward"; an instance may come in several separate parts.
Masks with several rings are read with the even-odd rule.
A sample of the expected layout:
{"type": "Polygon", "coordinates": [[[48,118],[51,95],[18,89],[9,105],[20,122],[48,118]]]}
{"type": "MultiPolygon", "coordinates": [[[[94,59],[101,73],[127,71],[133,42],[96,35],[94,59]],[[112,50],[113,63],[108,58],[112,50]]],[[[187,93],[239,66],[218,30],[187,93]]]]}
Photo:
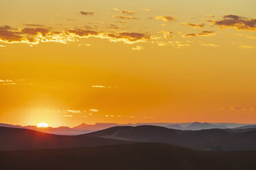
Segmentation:
{"type": "Polygon", "coordinates": [[[0,127],[0,151],[93,147],[125,143],[132,142],[91,136],[59,136],[34,130],[0,127]]]}

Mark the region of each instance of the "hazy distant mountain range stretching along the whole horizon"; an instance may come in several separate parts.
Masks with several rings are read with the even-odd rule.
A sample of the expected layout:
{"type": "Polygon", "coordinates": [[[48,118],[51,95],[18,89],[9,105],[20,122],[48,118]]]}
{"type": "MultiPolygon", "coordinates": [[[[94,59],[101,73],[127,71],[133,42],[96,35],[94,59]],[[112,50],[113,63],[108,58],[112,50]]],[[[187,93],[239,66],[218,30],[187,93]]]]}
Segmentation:
{"type": "Polygon", "coordinates": [[[239,123],[127,123],[127,124],[117,124],[117,123],[96,123],[94,125],[88,125],[87,123],[81,123],[81,125],[77,125],[75,127],[47,127],[47,128],[39,128],[34,125],[21,126],[21,125],[10,125],[6,123],[0,123],[0,127],[17,127],[24,128],[28,130],[36,130],[39,132],[45,132],[49,134],[59,134],[59,135],[78,135],[85,134],[89,132],[95,132],[98,130],[104,130],[109,127],[114,126],[138,126],[138,125],[156,125],[167,127],[175,130],[208,130],[208,129],[228,129],[228,128],[243,128],[246,127],[256,127],[255,124],[239,124],[239,123]],[[254,125],[254,126],[253,126],[254,125]]]}

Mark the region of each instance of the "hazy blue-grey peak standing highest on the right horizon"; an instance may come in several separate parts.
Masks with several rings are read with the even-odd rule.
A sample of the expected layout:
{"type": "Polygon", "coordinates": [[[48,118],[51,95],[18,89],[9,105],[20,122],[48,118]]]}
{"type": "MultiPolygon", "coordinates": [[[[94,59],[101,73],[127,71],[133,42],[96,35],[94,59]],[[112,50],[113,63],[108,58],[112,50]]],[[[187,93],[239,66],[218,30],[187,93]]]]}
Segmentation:
{"type": "Polygon", "coordinates": [[[184,130],[209,130],[209,129],[226,129],[226,125],[213,125],[211,123],[200,123],[194,122],[191,125],[188,125],[184,130]]]}

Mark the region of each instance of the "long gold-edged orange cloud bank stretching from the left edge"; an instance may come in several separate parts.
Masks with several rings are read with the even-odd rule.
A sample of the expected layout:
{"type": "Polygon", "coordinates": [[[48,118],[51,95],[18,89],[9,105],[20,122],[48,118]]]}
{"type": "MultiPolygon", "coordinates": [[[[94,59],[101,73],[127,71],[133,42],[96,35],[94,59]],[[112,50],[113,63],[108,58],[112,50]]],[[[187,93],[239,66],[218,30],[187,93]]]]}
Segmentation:
{"type": "MultiPolygon", "coordinates": [[[[112,25],[114,27],[114,25],[112,25]]],[[[111,42],[124,42],[133,44],[136,42],[145,42],[151,36],[138,32],[98,32],[91,29],[67,29],[65,31],[52,31],[47,28],[12,28],[10,26],[0,27],[0,42],[5,43],[27,43],[37,45],[39,42],[58,42],[67,43],[77,41],[79,38],[103,38],[111,42]]]]}

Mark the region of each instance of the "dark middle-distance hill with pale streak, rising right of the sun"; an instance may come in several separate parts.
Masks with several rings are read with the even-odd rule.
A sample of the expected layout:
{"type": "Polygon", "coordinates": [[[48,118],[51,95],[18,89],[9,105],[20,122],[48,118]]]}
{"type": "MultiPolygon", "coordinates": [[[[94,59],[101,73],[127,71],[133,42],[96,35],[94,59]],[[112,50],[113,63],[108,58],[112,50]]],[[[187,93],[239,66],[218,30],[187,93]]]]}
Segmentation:
{"type": "Polygon", "coordinates": [[[116,138],[142,143],[169,143],[195,149],[256,150],[256,130],[249,132],[228,132],[220,129],[192,131],[141,125],[111,127],[83,136],[116,138]]]}

